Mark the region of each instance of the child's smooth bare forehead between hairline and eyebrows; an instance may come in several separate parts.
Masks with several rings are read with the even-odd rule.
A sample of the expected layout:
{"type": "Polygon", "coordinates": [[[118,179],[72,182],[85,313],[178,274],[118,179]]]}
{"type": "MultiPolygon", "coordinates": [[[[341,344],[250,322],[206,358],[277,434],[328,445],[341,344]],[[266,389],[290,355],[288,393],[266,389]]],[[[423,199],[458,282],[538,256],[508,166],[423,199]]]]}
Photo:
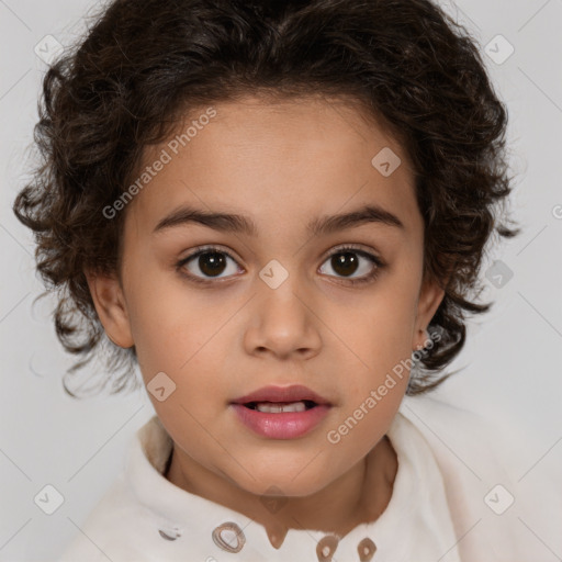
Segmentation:
{"type": "Polygon", "coordinates": [[[422,220],[403,147],[341,100],[247,97],[202,106],[145,149],[139,173],[159,159],[166,164],[127,210],[145,228],[182,204],[249,215],[258,231],[373,203],[406,228],[422,220]],[[400,165],[384,175],[385,161],[391,171],[400,165]]]}

